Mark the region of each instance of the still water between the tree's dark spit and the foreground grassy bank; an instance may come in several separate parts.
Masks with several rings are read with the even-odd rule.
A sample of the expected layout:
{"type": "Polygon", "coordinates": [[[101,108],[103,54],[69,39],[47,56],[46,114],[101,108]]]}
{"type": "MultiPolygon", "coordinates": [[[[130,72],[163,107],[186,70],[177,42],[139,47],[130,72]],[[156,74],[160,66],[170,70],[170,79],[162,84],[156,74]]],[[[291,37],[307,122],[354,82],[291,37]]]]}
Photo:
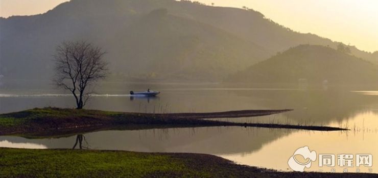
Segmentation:
{"type": "MultiPolygon", "coordinates": [[[[361,115],[366,117],[367,115],[361,115]]],[[[376,115],[374,115],[376,117],[376,115]]],[[[360,117],[360,118],[361,118],[360,117]]],[[[358,118],[354,118],[358,119],[358,118]]],[[[299,131],[244,127],[171,128],[133,131],[100,131],[63,138],[28,139],[3,136],[12,147],[42,145],[49,149],[125,150],[137,152],[204,153],[221,156],[240,164],[287,170],[287,160],[300,146],[317,153],[369,153],[375,149],[376,120],[365,120],[359,131],[299,131]],[[74,146],[72,146],[74,144],[74,146]],[[90,146],[89,146],[90,145],[90,146]]],[[[333,123],[337,125],[338,123],[333,123]]],[[[0,141],[0,146],[4,145],[0,141]]],[[[31,147],[34,148],[34,147],[31,147]]],[[[314,163],[313,171],[318,168],[314,163]]],[[[374,160],[373,165],[378,165],[374,160]]],[[[378,167],[373,167],[373,171],[378,167]]]]}

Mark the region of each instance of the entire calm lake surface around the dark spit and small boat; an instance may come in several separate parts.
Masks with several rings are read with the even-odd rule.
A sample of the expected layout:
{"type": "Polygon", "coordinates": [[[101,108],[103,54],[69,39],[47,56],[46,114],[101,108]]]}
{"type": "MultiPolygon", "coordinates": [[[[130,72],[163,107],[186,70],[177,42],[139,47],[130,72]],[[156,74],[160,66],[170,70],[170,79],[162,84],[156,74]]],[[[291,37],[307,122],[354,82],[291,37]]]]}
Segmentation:
{"type": "MultiPolygon", "coordinates": [[[[100,131],[84,134],[88,149],[138,152],[190,152],[221,156],[240,164],[289,170],[288,159],[302,146],[318,154],[372,154],[373,167],[361,172],[378,173],[378,92],[353,92],[344,88],[303,90],[298,87],[256,88],[216,83],[106,83],[92,97],[88,109],[135,112],[211,112],[241,109],[294,109],[251,118],[216,119],[347,127],[351,131],[319,132],[288,129],[208,127],[100,131]],[[106,88],[120,88],[119,90],[106,88]],[[130,97],[130,90],[161,91],[157,98],[130,97]]],[[[74,107],[74,100],[60,91],[30,87],[0,90],[0,113],[34,107],[74,107]]],[[[0,136],[0,146],[35,149],[72,148],[76,136],[28,139],[0,136]]],[[[334,167],[337,172],[343,168],[334,167]]],[[[357,167],[348,168],[355,172],[357,167]]],[[[330,171],[313,162],[311,171],[330,171]]]]}

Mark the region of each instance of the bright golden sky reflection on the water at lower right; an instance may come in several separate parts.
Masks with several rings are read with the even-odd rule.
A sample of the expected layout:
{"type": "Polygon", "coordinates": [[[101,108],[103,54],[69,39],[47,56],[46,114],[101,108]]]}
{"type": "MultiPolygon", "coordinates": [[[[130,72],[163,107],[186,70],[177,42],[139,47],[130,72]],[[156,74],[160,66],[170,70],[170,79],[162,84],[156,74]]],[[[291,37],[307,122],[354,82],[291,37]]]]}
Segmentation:
{"type": "MultiPolygon", "coordinates": [[[[356,116],[346,118],[343,122],[333,122],[330,126],[349,125],[350,131],[340,132],[292,132],[288,136],[275,139],[264,144],[261,149],[248,154],[221,154],[218,156],[233,160],[240,164],[270,167],[280,170],[290,170],[287,160],[296,149],[302,146],[309,146],[318,154],[371,154],[373,155],[372,172],[378,173],[378,115],[375,112],[363,112],[356,116]],[[279,150],[278,150],[279,148],[279,150]]],[[[308,171],[329,172],[331,168],[319,167],[316,160],[308,171]]],[[[361,172],[370,172],[369,167],[359,167],[361,172]]],[[[337,172],[342,172],[342,167],[335,167],[337,172]]],[[[351,167],[349,172],[355,172],[356,167],[351,167]]]]}

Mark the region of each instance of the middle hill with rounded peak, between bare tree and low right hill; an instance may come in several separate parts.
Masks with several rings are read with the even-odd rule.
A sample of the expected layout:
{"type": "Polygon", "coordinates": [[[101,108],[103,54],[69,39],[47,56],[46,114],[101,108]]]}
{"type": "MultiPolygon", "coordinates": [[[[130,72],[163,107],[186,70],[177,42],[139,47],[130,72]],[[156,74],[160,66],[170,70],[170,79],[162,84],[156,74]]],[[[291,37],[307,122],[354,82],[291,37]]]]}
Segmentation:
{"type": "Polygon", "coordinates": [[[111,47],[113,54],[127,59],[117,62],[115,70],[130,66],[127,71],[139,76],[148,71],[155,78],[219,80],[267,57],[266,51],[252,42],[169,15],[166,9],[152,11],[126,32],[116,35],[119,38],[111,47]]]}

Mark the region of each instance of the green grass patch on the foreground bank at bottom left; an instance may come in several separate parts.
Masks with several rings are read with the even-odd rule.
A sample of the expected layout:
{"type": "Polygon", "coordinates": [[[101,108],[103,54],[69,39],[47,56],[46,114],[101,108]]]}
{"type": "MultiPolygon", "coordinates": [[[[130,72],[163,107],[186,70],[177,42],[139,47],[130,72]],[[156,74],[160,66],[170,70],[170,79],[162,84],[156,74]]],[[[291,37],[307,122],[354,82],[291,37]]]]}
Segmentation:
{"type": "Polygon", "coordinates": [[[0,150],[0,177],[206,176],[169,155],[78,150],[0,150]]]}

